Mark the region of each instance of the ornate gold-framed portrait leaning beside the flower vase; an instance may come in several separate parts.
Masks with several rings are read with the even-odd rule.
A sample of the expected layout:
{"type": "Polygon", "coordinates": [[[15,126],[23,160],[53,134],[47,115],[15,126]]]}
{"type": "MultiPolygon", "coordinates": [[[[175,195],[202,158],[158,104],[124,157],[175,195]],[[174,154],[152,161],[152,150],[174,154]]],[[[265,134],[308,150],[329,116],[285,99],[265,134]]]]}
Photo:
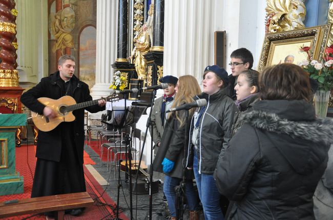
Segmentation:
{"type": "Polygon", "coordinates": [[[299,50],[301,46],[310,46],[311,60],[318,60],[325,52],[329,31],[330,24],[266,34],[258,71],[260,72],[265,66],[284,62],[289,55],[294,57],[294,64],[306,60],[307,54],[299,50]]]}

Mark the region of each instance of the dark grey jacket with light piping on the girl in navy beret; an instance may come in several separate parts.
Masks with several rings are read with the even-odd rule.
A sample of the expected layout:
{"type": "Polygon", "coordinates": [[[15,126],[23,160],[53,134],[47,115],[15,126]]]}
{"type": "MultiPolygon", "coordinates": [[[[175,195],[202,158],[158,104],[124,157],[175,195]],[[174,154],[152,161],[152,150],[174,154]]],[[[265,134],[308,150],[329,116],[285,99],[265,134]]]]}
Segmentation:
{"type": "MultiPolygon", "coordinates": [[[[231,138],[231,129],[234,118],[238,114],[238,108],[234,101],[225,94],[225,90],[220,90],[213,95],[201,93],[198,98],[207,100],[207,106],[198,127],[198,149],[196,151],[198,168],[199,173],[212,175],[221,151],[226,148],[231,138]]],[[[190,140],[192,140],[193,129],[194,120],[192,119],[190,140]]],[[[189,152],[193,150],[194,145],[190,141],[189,152]]],[[[187,166],[192,166],[192,159],[188,157],[187,166]]]]}

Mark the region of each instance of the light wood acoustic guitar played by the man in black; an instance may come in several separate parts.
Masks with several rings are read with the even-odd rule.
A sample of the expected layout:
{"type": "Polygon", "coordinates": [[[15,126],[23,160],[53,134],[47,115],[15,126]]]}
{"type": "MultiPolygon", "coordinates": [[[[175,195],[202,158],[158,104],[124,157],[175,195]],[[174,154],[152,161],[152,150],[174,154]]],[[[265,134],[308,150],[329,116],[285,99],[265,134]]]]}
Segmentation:
{"type": "MultiPolygon", "coordinates": [[[[122,99],[122,95],[112,94],[103,99],[106,99],[107,101],[117,101],[122,99]]],[[[78,104],[76,104],[74,98],[69,95],[60,97],[58,100],[53,100],[47,97],[40,97],[37,100],[41,104],[51,108],[54,112],[56,112],[56,115],[55,117],[46,117],[43,114],[40,115],[31,111],[32,121],[40,131],[52,131],[63,121],[69,122],[75,120],[75,116],[72,111],[97,105],[98,101],[101,99],[78,104]]]]}

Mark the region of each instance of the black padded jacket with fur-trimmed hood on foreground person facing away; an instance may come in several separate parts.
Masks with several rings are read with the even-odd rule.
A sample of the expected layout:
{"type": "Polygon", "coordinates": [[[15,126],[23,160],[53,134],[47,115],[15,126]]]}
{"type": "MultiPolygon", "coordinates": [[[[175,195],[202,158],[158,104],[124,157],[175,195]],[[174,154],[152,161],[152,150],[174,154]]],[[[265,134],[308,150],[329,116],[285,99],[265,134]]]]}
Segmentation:
{"type": "Polygon", "coordinates": [[[218,190],[235,201],[228,219],[314,219],[333,121],[305,101],[259,101],[219,160],[218,190]]]}

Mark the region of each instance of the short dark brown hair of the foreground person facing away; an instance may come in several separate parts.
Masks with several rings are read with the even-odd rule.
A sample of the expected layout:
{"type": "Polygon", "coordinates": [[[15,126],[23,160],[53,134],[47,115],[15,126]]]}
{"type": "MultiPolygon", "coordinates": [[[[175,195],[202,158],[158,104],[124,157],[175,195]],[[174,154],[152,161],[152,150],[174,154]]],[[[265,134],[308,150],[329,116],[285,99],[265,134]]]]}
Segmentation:
{"type": "Polygon", "coordinates": [[[261,100],[311,100],[309,76],[295,64],[266,67],[259,76],[261,100]]]}

